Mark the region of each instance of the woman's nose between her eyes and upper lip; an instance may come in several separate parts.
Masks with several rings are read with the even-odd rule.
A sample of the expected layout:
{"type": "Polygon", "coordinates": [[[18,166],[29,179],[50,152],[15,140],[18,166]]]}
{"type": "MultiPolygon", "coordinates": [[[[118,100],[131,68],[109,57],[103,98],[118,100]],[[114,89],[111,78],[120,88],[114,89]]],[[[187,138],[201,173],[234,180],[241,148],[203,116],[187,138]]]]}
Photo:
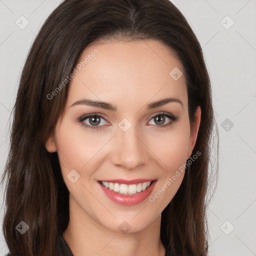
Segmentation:
{"type": "Polygon", "coordinates": [[[138,133],[135,125],[127,131],[117,127],[114,137],[111,160],[114,165],[132,170],[143,165],[148,160],[148,148],[144,144],[143,136],[138,133]]]}

